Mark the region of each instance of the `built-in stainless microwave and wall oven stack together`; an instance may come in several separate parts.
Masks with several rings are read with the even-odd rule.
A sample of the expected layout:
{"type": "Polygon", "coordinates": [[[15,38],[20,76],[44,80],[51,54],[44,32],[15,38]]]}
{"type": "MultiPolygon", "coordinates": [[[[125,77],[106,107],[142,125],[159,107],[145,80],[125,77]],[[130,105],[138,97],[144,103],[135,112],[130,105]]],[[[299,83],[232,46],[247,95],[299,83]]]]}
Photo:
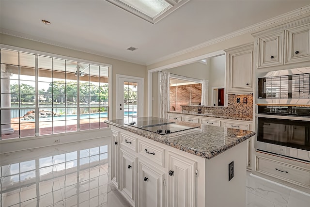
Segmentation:
{"type": "Polygon", "coordinates": [[[310,162],[310,68],[261,74],[256,104],[255,148],[310,162]]]}

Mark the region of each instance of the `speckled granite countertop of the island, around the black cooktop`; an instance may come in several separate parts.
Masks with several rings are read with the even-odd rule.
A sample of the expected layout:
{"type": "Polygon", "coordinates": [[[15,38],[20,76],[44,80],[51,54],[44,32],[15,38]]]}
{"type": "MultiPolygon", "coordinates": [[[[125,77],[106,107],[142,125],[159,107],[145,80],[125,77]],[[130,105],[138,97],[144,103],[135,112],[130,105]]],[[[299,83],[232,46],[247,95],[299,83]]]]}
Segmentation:
{"type": "MultiPolygon", "coordinates": [[[[155,117],[144,118],[154,119],[155,117]]],[[[255,135],[255,132],[253,131],[204,124],[196,124],[200,125],[200,128],[161,135],[155,132],[124,125],[123,119],[106,120],[105,123],[138,134],[147,139],[197,155],[204,159],[212,159],[220,153],[225,152],[255,135]]],[[[193,126],[191,123],[177,121],[176,124],[178,123],[183,126],[193,126]]]]}

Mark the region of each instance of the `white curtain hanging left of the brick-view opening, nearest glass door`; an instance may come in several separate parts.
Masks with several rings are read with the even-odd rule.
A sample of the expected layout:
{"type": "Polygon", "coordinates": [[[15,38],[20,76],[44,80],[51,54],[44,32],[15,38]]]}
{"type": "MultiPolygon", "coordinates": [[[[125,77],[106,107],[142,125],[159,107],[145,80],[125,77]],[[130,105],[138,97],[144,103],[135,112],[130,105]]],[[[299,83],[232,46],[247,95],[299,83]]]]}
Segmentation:
{"type": "Polygon", "coordinates": [[[170,73],[167,71],[160,73],[159,117],[167,119],[167,111],[170,111],[170,73]]]}

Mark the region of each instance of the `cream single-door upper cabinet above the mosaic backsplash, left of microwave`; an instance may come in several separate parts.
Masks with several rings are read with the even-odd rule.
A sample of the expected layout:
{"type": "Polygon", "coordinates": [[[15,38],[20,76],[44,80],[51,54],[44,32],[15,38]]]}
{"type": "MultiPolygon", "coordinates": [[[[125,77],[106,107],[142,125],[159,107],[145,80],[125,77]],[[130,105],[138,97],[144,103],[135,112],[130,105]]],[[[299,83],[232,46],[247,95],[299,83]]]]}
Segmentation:
{"type": "Polygon", "coordinates": [[[225,50],[228,94],[253,93],[253,50],[252,43],[225,50]]]}

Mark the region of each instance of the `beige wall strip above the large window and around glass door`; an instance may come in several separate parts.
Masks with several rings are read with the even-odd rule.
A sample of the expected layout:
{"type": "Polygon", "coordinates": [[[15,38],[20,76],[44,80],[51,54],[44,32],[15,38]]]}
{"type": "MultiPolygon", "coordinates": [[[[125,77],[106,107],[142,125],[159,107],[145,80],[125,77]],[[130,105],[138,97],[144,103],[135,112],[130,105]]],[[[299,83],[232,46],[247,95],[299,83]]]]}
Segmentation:
{"type": "MultiPolygon", "coordinates": [[[[41,42],[35,42],[28,39],[23,39],[6,34],[0,34],[0,44],[9,45],[19,48],[26,48],[36,51],[42,51],[57,55],[63,55],[72,58],[78,58],[83,60],[89,60],[93,62],[111,64],[112,65],[112,101],[116,103],[116,74],[122,74],[127,76],[135,76],[144,78],[144,99],[143,103],[147,103],[147,72],[146,66],[141,64],[129,63],[113,58],[108,58],[100,55],[90,54],[78,50],[62,48],[59,46],[53,46],[41,42]]],[[[148,105],[143,104],[144,116],[147,115],[148,105]]],[[[112,119],[116,118],[116,107],[112,108],[112,119]]]]}

